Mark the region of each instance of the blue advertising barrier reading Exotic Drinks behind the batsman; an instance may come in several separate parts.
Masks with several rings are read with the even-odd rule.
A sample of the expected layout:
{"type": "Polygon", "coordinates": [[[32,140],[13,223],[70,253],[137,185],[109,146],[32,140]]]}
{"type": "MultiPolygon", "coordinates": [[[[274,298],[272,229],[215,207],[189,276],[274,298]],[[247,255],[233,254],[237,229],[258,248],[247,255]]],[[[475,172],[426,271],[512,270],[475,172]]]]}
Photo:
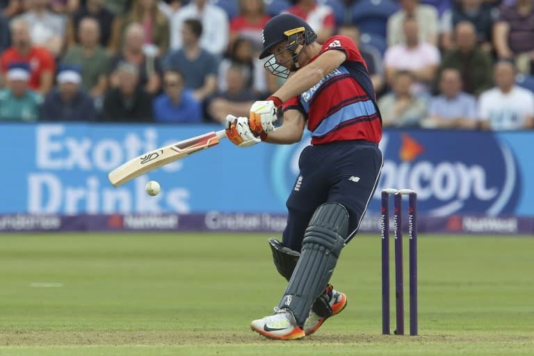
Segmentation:
{"type": "MultiPolygon", "coordinates": [[[[0,231],[269,231],[285,224],[298,179],[296,145],[237,149],[225,141],[113,188],[125,160],[216,125],[3,123],[0,231]],[[243,169],[246,163],[247,169],[243,169]],[[145,183],[162,191],[150,197],[145,183]],[[236,189],[242,197],[237,200],[236,189]]],[[[385,131],[380,186],[362,221],[378,231],[380,191],[417,191],[421,232],[534,232],[534,131],[385,131]]]]}

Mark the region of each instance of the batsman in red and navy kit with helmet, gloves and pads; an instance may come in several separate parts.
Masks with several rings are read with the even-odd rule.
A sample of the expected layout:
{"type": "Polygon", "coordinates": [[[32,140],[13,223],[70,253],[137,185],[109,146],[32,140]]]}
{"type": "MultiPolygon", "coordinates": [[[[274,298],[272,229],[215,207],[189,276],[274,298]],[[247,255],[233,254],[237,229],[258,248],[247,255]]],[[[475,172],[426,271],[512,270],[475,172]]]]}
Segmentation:
{"type": "MultiPolygon", "coordinates": [[[[319,44],[312,27],[291,14],[270,19],[263,37],[259,58],[267,58],[266,70],[286,81],[254,102],[248,118],[227,115],[226,134],[235,145],[249,147],[298,143],[305,128],[312,133],[286,202],[282,242],[268,241],[275,267],[289,284],[275,314],[250,324],[270,339],[300,339],[346,306],[345,293],[329,282],[378,184],[382,118],[353,40],[334,35],[319,44]],[[275,127],[279,113],[284,120],[275,127]]],[[[257,159],[243,162],[243,169],[253,169],[250,161],[257,159]]]]}

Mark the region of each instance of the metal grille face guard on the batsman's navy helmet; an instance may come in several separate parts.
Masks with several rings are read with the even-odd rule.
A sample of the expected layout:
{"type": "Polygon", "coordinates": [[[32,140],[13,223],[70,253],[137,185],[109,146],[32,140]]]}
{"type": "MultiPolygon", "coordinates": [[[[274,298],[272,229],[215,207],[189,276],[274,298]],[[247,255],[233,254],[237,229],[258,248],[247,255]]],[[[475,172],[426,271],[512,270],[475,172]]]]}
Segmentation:
{"type": "MultiPolygon", "coordinates": [[[[264,63],[264,67],[268,72],[282,79],[286,79],[291,72],[296,72],[298,70],[298,56],[300,56],[302,50],[305,49],[306,44],[313,43],[317,39],[316,33],[307,31],[305,27],[298,27],[296,29],[284,31],[284,35],[287,37],[286,47],[277,51],[275,54],[271,54],[266,63],[264,63]],[[293,56],[284,63],[277,63],[276,56],[283,51],[290,51],[293,56]]],[[[278,43],[273,44],[272,47],[275,47],[278,43]]]]}

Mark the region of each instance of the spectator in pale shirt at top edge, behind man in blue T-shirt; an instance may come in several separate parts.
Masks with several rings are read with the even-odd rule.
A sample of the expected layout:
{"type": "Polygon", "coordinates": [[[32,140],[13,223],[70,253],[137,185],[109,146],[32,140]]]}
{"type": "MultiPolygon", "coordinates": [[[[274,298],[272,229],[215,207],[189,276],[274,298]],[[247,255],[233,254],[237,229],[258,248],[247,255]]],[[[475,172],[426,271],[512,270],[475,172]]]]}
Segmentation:
{"type": "MultiPolygon", "coordinates": [[[[208,0],[191,0],[172,16],[170,22],[170,47],[181,49],[182,27],[187,19],[198,19],[202,24],[200,47],[209,53],[222,56],[228,48],[228,15],[225,10],[208,3],[208,0]]],[[[185,73],[184,73],[185,74],[185,73]]]]}

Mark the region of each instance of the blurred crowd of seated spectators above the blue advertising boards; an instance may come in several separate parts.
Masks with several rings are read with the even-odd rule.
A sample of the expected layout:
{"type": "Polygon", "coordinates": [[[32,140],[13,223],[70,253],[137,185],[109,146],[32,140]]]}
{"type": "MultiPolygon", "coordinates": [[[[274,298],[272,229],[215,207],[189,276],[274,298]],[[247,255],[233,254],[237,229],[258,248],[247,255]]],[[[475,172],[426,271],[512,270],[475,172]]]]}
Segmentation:
{"type": "Polygon", "coordinates": [[[359,45],[385,127],[534,128],[534,0],[0,0],[0,120],[223,122],[289,12],[359,45]]]}

